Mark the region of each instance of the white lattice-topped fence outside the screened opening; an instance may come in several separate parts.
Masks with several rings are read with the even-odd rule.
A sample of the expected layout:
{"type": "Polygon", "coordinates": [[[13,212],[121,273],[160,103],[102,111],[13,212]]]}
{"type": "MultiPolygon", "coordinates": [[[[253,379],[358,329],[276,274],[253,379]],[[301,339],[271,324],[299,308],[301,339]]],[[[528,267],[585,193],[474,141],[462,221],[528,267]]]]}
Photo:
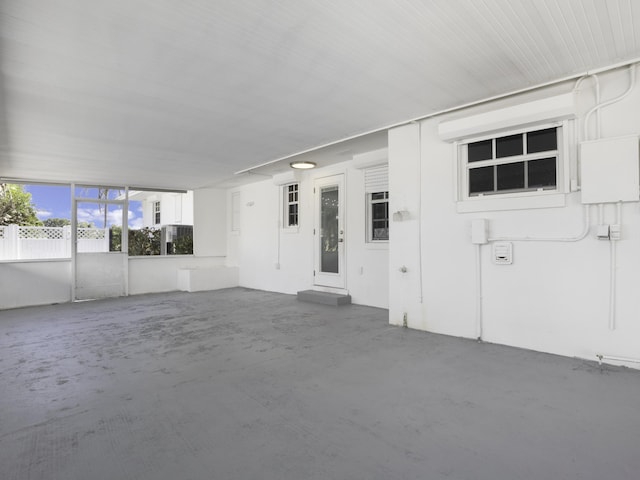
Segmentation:
{"type": "MultiPolygon", "coordinates": [[[[78,228],[78,252],[108,252],[109,230],[78,228]]],[[[0,226],[0,260],[70,258],[71,227],[0,226]]]]}

